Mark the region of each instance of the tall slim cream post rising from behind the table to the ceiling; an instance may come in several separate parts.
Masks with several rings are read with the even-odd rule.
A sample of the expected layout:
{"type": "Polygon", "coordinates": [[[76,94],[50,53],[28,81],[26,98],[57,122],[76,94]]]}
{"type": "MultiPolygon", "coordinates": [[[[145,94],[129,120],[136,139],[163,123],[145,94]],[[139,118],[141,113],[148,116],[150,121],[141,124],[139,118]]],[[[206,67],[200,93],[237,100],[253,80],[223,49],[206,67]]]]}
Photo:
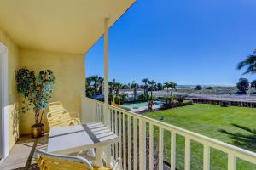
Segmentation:
{"type": "MultiPolygon", "coordinates": [[[[108,128],[110,128],[110,114],[108,111],[108,18],[104,20],[104,118],[108,128]]],[[[106,147],[106,162],[110,167],[111,153],[110,146],[106,147]]]]}

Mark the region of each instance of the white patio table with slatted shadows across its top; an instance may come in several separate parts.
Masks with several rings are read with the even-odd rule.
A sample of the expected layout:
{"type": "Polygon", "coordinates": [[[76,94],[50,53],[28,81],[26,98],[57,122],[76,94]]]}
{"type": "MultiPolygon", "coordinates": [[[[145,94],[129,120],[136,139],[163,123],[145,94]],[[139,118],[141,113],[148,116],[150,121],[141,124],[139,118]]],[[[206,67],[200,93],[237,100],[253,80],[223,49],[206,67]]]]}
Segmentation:
{"type": "Polygon", "coordinates": [[[47,151],[55,154],[71,154],[96,148],[97,166],[102,166],[102,147],[119,142],[119,137],[102,123],[90,123],[49,130],[47,151]]]}

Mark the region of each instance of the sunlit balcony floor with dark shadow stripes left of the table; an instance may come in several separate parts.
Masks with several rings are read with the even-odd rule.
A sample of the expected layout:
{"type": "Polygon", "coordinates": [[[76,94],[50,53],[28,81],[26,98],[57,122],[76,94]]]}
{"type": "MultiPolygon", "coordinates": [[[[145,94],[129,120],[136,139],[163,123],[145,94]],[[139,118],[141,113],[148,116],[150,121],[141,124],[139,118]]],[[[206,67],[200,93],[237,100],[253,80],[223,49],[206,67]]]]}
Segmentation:
{"type": "Polygon", "coordinates": [[[30,135],[21,136],[20,140],[10,150],[9,156],[0,165],[1,170],[10,169],[39,169],[32,158],[34,150],[46,150],[48,135],[39,139],[32,139],[30,135]]]}

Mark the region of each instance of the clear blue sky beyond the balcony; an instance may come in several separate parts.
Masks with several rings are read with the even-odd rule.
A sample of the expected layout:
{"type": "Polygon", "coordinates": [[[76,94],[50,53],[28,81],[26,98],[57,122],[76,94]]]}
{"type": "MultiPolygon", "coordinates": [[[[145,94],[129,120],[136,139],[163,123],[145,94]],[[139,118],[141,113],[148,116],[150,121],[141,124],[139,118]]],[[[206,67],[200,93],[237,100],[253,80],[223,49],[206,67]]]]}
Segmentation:
{"type": "MultiPolygon", "coordinates": [[[[255,8],[255,0],[137,0],[109,29],[109,80],[252,81],[236,65],[256,48],[255,8]]],[[[103,38],[85,55],[86,77],[103,76],[103,38]]]]}

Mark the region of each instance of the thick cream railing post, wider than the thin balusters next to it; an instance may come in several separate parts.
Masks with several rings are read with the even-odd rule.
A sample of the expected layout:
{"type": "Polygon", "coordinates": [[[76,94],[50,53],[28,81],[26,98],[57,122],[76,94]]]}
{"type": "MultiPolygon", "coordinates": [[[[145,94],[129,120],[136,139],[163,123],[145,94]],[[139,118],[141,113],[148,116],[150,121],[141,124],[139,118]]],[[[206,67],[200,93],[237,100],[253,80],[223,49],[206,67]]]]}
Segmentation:
{"type": "Polygon", "coordinates": [[[139,120],[139,169],[146,169],[146,122],[139,120]]]}

